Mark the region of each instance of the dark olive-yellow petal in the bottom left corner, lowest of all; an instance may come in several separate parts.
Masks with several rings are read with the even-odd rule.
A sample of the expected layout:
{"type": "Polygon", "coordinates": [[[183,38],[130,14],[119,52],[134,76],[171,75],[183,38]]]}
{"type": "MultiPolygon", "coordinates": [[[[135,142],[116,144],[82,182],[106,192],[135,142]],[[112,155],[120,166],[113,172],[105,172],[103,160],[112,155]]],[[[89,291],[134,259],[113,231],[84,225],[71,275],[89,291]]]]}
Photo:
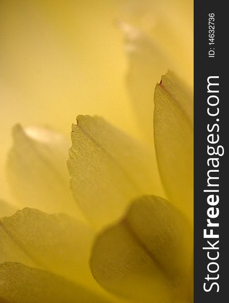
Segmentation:
{"type": "Polygon", "coordinates": [[[0,280],[0,298],[8,303],[110,302],[62,277],[20,263],[1,264],[0,280]]]}

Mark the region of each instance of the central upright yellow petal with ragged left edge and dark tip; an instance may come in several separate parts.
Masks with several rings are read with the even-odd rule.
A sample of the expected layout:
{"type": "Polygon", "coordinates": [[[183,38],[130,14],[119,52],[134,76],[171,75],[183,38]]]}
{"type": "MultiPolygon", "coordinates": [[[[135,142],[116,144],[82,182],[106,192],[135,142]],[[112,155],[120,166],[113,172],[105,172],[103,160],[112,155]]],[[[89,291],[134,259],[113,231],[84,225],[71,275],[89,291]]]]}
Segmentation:
{"type": "Polygon", "coordinates": [[[131,198],[161,193],[154,154],[99,117],[78,116],[68,168],[85,216],[101,227],[119,218],[131,198]]]}

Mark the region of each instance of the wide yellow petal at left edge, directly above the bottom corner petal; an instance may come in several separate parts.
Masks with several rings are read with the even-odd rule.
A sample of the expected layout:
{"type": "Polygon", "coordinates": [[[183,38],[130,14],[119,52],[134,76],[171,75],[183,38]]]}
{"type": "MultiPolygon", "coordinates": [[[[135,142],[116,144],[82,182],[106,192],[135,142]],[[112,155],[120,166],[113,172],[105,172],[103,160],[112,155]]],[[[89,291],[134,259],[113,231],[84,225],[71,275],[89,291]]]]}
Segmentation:
{"type": "Polygon", "coordinates": [[[81,284],[95,284],[88,260],[94,232],[64,214],[25,208],[0,219],[0,262],[21,262],[81,284]]]}

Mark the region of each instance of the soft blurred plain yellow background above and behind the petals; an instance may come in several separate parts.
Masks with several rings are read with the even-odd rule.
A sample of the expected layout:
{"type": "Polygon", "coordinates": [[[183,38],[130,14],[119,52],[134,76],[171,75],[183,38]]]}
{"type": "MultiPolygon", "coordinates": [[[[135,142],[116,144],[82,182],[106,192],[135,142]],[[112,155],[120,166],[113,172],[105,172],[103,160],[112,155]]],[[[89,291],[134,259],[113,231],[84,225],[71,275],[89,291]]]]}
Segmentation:
{"type": "Polygon", "coordinates": [[[2,198],[9,198],[4,162],[15,123],[50,125],[69,136],[78,114],[97,114],[141,136],[125,86],[128,61],[117,20],[152,36],[192,86],[192,1],[0,2],[2,198]]]}

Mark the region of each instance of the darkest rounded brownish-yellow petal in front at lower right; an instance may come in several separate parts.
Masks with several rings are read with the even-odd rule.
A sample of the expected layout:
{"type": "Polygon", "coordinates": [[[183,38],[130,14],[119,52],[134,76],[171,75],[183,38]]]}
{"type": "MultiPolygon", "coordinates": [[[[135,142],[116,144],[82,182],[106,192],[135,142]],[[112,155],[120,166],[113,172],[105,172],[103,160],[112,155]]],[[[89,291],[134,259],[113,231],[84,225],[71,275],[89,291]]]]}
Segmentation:
{"type": "Polygon", "coordinates": [[[192,232],[188,221],[163,198],[139,198],[123,220],[98,236],[90,267],[103,287],[138,302],[189,301],[192,232]]]}

